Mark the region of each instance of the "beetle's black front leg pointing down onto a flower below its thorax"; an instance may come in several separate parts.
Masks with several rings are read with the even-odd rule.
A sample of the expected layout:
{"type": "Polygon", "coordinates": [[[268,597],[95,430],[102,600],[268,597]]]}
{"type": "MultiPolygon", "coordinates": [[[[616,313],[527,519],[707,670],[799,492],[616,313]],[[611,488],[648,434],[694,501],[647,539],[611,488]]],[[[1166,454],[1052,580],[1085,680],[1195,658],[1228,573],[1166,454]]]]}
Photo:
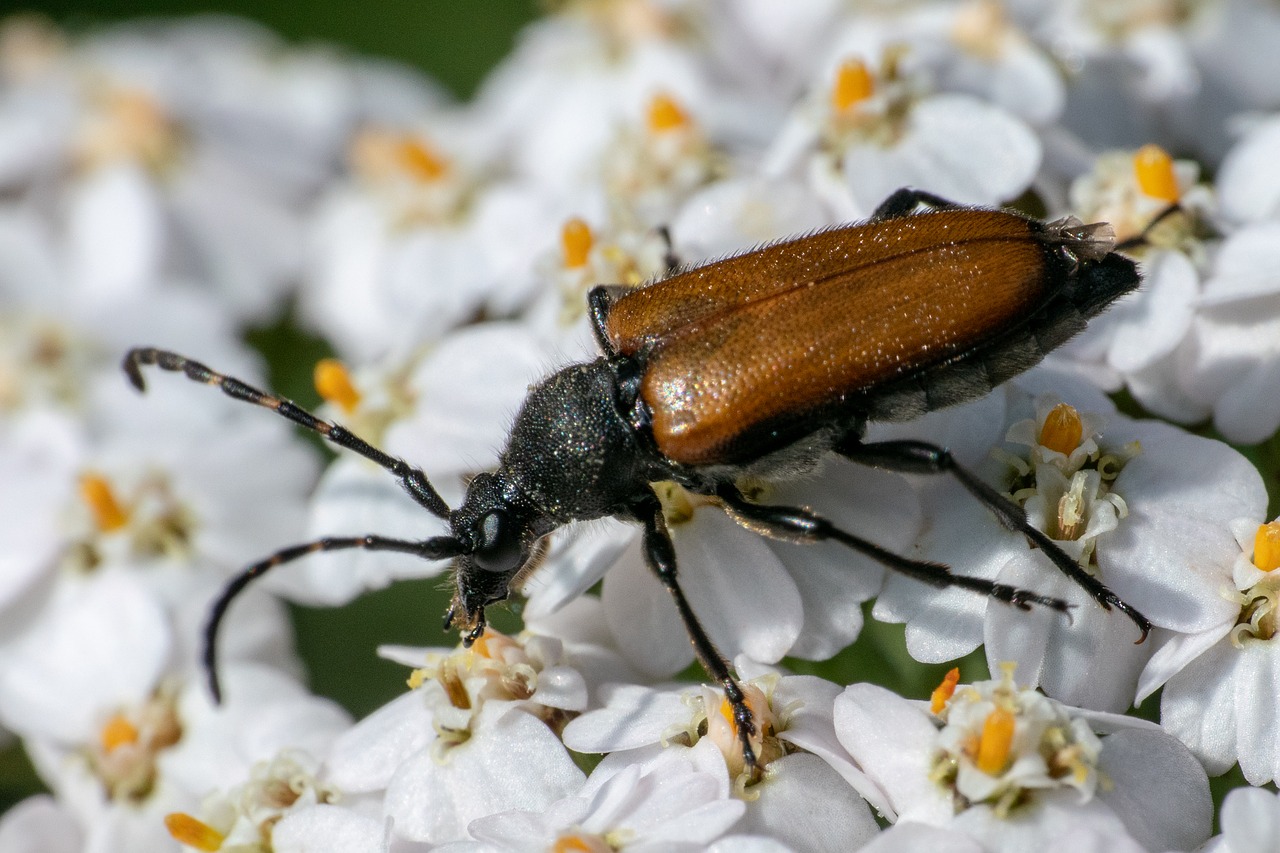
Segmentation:
{"type": "Polygon", "coordinates": [[[635,517],[644,525],[644,558],[649,569],[658,576],[662,585],[671,593],[680,619],[689,631],[689,640],[694,644],[694,653],[698,661],[707,670],[707,674],[719,681],[724,689],[724,698],[728,699],[733,710],[733,727],[737,739],[742,744],[742,761],[749,774],[755,771],[755,747],[751,745],[751,736],[755,734],[755,716],[746,704],[746,695],[742,688],[728,670],[728,662],[707,635],[707,629],[698,621],[694,608],[689,606],[685,592],[676,580],[676,547],[671,542],[667,532],[667,520],[662,515],[662,502],[650,492],[636,501],[631,507],[635,517]]]}

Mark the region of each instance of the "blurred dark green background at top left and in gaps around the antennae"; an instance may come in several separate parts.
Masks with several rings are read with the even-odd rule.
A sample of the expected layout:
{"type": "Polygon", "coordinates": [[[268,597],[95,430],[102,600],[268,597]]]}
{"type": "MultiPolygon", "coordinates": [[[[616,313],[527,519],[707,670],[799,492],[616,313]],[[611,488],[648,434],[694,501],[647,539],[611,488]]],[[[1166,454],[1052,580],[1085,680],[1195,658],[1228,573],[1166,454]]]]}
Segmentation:
{"type": "MultiPolygon", "coordinates": [[[[516,33],[540,13],[536,0],[46,0],[0,1],[0,18],[47,15],[72,36],[148,17],[229,14],[256,20],[294,45],[338,45],[353,54],[383,56],[422,70],[458,97],[475,92],[512,47],[516,33]]],[[[282,323],[251,334],[271,364],[275,387],[305,405],[317,402],[311,368],[328,355],[321,341],[282,323]]],[[[287,544],[287,543],[280,543],[287,544]]],[[[440,619],[448,597],[439,581],[402,584],[333,611],[293,608],[298,646],[316,692],[362,716],[402,693],[403,666],[375,657],[380,643],[448,644],[440,619]]],[[[512,626],[509,619],[499,628],[512,626]]],[[[0,813],[42,790],[18,743],[0,742],[0,813]]]]}

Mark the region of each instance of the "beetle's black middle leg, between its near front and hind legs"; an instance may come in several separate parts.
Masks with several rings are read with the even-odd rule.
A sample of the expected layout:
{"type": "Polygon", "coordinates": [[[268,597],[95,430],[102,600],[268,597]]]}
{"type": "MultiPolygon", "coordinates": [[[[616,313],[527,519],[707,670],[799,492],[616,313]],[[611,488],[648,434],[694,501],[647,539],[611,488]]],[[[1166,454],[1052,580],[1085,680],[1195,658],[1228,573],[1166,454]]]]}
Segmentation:
{"type": "Polygon", "coordinates": [[[847,530],[841,530],[827,519],[797,506],[771,506],[764,503],[751,503],[732,483],[724,483],[716,489],[716,496],[724,503],[724,508],[746,528],[774,539],[785,542],[838,542],[842,546],[864,553],[887,569],[914,578],[937,589],[959,587],[987,596],[1020,610],[1030,610],[1032,605],[1048,607],[1062,613],[1069,613],[1071,606],[1061,598],[1041,596],[1039,593],[1009,584],[998,584],[986,578],[973,578],[970,575],[952,574],[948,566],[940,562],[924,560],[911,560],[882,548],[874,542],[868,542],[861,537],[855,537],[847,530]]]}

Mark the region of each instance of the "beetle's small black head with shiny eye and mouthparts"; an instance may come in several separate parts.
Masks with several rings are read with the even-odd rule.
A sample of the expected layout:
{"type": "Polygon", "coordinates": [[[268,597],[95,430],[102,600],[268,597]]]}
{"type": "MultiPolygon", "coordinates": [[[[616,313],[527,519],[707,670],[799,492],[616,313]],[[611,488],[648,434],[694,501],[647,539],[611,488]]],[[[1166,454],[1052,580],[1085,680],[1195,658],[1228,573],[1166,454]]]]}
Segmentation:
{"type": "Polygon", "coordinates": [[[462,631],[471,646],[484,634],[485,607],[506,601],[511,587],[539,562],[534,514],[493,474],[477,474],[467,497],[449,514],[462,552],[454,564],[457,589],[444,628],[462,631]]]}

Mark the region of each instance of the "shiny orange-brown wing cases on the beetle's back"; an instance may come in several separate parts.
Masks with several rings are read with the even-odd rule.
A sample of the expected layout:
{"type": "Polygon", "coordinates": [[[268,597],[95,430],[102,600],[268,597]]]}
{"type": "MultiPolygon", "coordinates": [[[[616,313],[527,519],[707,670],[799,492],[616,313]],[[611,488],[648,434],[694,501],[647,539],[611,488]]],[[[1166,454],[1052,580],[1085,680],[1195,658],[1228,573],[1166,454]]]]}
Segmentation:
{"type": "Polygon", "coordinates": [[[608,333],[645,359],[658,448],[736,462],[828,412],[874,415],[877,394],[941,365],[998,356],[1073,275],[1051,243],[1039,223],[992,210],[820,232],[627,293],[608,333]]]}

